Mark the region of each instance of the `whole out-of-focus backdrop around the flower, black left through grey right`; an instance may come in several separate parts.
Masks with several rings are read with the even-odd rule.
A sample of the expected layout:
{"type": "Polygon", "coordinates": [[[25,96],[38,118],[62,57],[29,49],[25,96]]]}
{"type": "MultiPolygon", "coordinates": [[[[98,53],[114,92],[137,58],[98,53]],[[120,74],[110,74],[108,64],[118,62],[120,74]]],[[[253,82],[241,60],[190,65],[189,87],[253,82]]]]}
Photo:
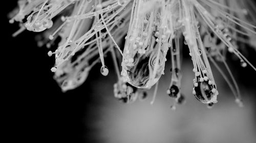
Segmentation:
{"type": "MultiPolygon", "coordinates": [[[[35,33],[26,31],[16,38],[11,37],[11,34],[18,30],[18,24],[9,24],[6,15],[16,7],[16,2],[5,1],[3,3],[4,11],[2,12],[2,24],[4,25],[2,26],[3,41],[1,48],[4,49],[4,51],[2,51],[2,76],[4,77],[4,82],[2,83],[4,87],[2,92],[2,105],[4,112],[3,117],[6,120],[4,125],[7,126],[5,133],[10,135],[8,142],[14,142],[14,140],[26,142],[151,142],[152,140],[145,139],[150,138],[151,135],[156,135],[156,138],[159,137],[157,140],[159,142],[200,142],[197,138],[200,136],[200,133],[203,132],[209,132],[209,136],[216,136],[216,138],[220,139],[208,140],[209,142],[236,142],[236,139],[229,139],[243,133],[249,134],[248,136],[242,135],[242,137],[247,139],[244,140],[244,142],[256,142],[256,140],[254,140],[255,138],[253,138],[253,134],[256,133],[256,72],[250,67],[241,68],[238,61],[230,62],[229,60],[232,71],[239,80],[239,85],[242,88],[246,105],[243,109],[238,108],[233,103],[230,90],[221,77],[217,77],[217,82],[220,82],[219,87],[223,89],[220,89],[220,94],[225,97],[221,97],[219,99],[220,103],[212,110],[208,110],[205,105],[196,101],[196,99],[190,95],[189,92],[191,92],[192,89],[192,85],[190,85],[192,84],[191,77],[183,79],[183,88],[187,91],[185,92],[184,90],[188,101],[185,105],[180,106],[178,111],[173,112],[169,109],[170,99],[165,95],[169,78],[164,78],[160,82],[163,90],[160,88],[160,93],[157,97],[159,101],[156,101],[155,107],[151,106],[149,103],[151,94],[149,94],[150,99],[146,100],[146,102],[136,102],[135,105],[122,105],[116,101],[112,94],[113,83],[116,82],[116,77],[112,74],[114,70],[111,59],[106,60],[111,72],[108,77],[103,77],[99,72],[100,65],[96,65],[81,87],[67,93],[62,93],[57,83],[52,78],[53,73],[50,71],[51,67],[54,65],[54,58],[49,58],[47,55],[48,49],[46,47],[37,47],[36,41],[34,40],[36,36],[35,33]],[[165,102],[166,99],[168,100],[167,103],[165,102]],[[225,112],[222,113],[221,111],[224,110],[225,112]],[[231,114],[232,111],[233,114],[231,114]],[[131,113],[132,117],[129,113],[131,113]],[[156,118],[156,116],[161,117],[156,118]],[[224,116],[226,118],[222,119],[221,117],[224,116]],[[209,119],[207,117],[209,117],[209,119]],[[156,118],[154,122],[152,121],[153,118],[156,118]],[[169,118],[172,119],[172,121],[165,121],[169,118]],[[164,124],[165,127],[169,126],[168,128],[172,128],[174,131],[167,132],[168,129],[164,127],[160,128],[157,124],[161,125],[161,119],[165,119],[165,122],[163,122],[167,123],[164,124]],[[184,119],[189,120],[183,121],[184,119]],[[201,119],[203,121],[200,121],[201,119]],[[218,123],[212,123],[212,125],[208,126],[203,125],[200,129],[190,126],[190,124],[198,124],[199,126],[202,125],[204,121],[209,120],[210,122],[218,120],[218,123]],[[227,132],[222,131],[220,127],[224,128],[224,126],[229,121],[231,123],[232,120],[234,125],[239,121],[239,123],[237,123],[239,125],[237,127],[233,126],[233,124],[226,126],[227,128],[230,127],[230,129],[228,129],[228,131],[230,131],[229,135],[227,132]],[[177,124],[174,124],[174,122],[177,124]],[[108,123],[111,124],[108,125],[108,123]],[[127,123],[131,123],[131,125],[127,123]],[[156,125],[154,124],[154,127],[150,128],[153,126],[151,123],[156,123],[156,125]],[[112,124],[113,126],[111,126],[112,124]],[[118,127],[122,127],[122,125],[124,125],[123,130],[118,129],[118,127]],[[138,125],[138,128],[128,130],[129,127],[134,125],[138,125]],[[245,128],[245,130],[243,130],[243,128],[245,128]],[[214,129],[216,131],[214,131],[214,129]],[[138,134],[141,135],[131,133],[136,132],[136,130],[141,131],[138,132],[138,134]],[[150,132],[151,130],[152,132],[150,132]],[[191,131],[185,133],[184,131],[186,130],[191,131]],[[232,130],[240,130],[240,132],[231,133],[232,130]],[[111,132],[113,132],[113,134],[111,134],[111,132]],[[218,133],[224,135],[218,137],[218,133]],[[163,134],[166,134],[164,135],[166,140],[161,140],[163,139],[161,136],[163,134]],[[168,137],[172,135],[175,135],[178,139],[169,139],[168,137]]],[[[184,69],[191,71],[192,63],[186,56],[188,52],[187,50],[183,52],[184,69]]],[[[255,50],[247,47],[247,49],[244,50],[244,54],[249,57],[249,61],[255,66],[255,50]]],[[[231,59],[231,57],[232,56],[229,58],[231,59]]],[[[166,67],[168,71],[168,66],[166,67]]],[[[168,74],[167,71],[166,73],[168,74]]],[[[215,72],[217,71],[214,71],[214,74],[215,72]]],[[[193,73],[184,72],[185,77],[186,74],[192,75],[193,73]]]]}

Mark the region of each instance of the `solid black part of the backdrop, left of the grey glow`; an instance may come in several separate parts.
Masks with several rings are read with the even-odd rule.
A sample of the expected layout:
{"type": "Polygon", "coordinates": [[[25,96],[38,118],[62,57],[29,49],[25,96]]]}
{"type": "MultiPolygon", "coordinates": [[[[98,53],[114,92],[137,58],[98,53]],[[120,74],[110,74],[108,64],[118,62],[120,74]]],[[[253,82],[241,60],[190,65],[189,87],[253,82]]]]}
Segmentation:
{"type": "Polygon", "coordinates": [[[46,47],[37,47],[35,33],[11,37],[18,24],[9,24],[7,14],[16,7],[16,1],[3,3],[2,102],[9,142],[84,142],[86,104],[96,100],[88,96],[90,80],[97,76],[89,76],[82,87],[63,94],[50,71],[54,58],[49,58],[46,47]]]}

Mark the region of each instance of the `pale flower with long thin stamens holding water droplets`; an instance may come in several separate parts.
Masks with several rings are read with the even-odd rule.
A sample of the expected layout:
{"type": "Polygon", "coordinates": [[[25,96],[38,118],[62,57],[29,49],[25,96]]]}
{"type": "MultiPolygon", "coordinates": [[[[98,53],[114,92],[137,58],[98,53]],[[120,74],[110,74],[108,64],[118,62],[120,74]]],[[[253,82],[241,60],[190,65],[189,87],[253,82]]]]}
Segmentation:
{"type": "Polygon", "coordinates": [[[11,15],[11,23],[20,22],[20,30],[13,36],[25,29],[47,30],[38,38],[38,45],[49,48],[60,37],[58,48],[48,55],[55,54],[51,70],[63,92],[81,85],[98,62],[102,64],[102,75],[108,75],[104,56],[111,52],[118,77],[115,97],[123,102],[134,101],[139,94],[145,95],[137,88],[158,85],[170,50],[172,79],[167,94],[176,99],[172,106],[175,108],[176,103],[184,102],[181,43],[189,48],[194,65],[192,93],[209,106],[217,103],[219,95],[210,62],[223,75],[239,105],[239,87],[225,62],[225,53],[233,53],[241,66],[250,65],[256,70],[239,51],[241,42],[255,47],[256,26],[252,24],[256,19],[250,0],[19,0],[11,15]],[[125,45],[120,47],[124,37],[125,45]],[[216,61],[225,65],[229,77],[216,61]]]}

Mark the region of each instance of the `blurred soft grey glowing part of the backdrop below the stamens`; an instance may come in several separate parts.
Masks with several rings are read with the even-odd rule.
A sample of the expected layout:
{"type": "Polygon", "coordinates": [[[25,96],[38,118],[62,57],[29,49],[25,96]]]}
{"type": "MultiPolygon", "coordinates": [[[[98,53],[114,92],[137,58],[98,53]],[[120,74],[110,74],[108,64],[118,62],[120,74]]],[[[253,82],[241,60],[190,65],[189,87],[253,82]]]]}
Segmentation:
{"type": "Polygon", "coordinates": [[[169,65],[166,64],[153,105],[150,101],[154,88],[146,100],[122,104],[110,90],[115,82],[112,75],[91,82],[95,102],[87,105],[85,125],[90,131],[84,136],[95,142],[256,142],[255,90],[240,84],[245,106],[238,107],[228,85],[213,68],[220,95],[214,108],[208,109],[191,94],[193,67],[186,60],[182,66],[186,103],[173,111],[169,108],[172,99],[166,95],[169,65]]]}

